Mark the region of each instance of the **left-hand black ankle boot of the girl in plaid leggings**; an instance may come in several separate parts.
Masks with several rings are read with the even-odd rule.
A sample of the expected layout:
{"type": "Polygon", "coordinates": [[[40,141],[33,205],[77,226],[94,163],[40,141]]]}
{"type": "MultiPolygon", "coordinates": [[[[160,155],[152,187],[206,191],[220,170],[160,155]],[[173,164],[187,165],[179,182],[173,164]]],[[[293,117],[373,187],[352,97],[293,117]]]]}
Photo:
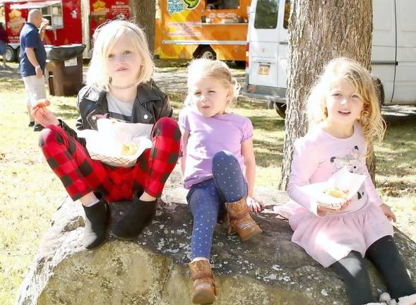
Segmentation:
{"type": "Polygon", "coordinates": [[[100,202],[90,207],[85,207],[85,227],[83,234],[83,246],[91,250],[100,246],[107,235],[109,222],[109,206],[103,198],[100,202]]]}

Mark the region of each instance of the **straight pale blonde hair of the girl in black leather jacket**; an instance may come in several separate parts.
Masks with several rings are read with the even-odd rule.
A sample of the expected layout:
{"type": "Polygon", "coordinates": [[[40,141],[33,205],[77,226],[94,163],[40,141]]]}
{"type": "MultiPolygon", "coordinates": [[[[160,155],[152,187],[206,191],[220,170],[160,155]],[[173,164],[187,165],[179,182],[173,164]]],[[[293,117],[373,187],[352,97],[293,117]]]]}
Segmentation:
{"type": "MultiPolygon", "coordinates": [[[[122,35],[128,35],[134,49],[141,56],[142,66],[137,76],[137,83],[146,83],[154,71],[152,56],[143,30],[126,20],[112,20],[100,25],[93,35],[94,49],[87,73],[87,84],[109,90],[111,83],[107,71],[107,56],[122,35]]],[[[129,84],[126,84],[129,85],[129,84]]]]}

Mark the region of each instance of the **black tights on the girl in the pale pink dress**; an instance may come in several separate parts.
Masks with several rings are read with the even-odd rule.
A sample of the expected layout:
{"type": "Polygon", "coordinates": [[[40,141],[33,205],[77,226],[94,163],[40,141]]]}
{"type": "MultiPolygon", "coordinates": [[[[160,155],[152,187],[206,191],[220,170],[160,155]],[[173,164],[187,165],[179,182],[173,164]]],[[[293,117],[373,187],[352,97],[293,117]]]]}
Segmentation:
{"type": "MultiPolygon", "coordinates": [[[[392,298],[397,300],[399,297],[416,293],[393,237],[386,236],[375,241],[367,249],[366,257],[384,276],[392,298]]],[[[351,251],[345,258],[333,263],[331,267],[345,282],[350,305],[362,305],[377,301],[372,293],[364,259],[359,252],[351,251]]]]}

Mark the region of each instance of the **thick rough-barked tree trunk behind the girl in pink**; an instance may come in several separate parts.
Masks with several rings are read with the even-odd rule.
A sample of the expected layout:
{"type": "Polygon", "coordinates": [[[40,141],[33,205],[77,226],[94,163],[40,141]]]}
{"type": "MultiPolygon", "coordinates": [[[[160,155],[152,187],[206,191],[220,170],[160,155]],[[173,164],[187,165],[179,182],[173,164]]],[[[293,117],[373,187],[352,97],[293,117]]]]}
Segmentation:
{"type": "Polygon", "coordinates": [[[307,132],[306,98],[331,59],[346,56],[370,69],[372,0],[292,0],[287,109],[280,189],[287,189],[293,143],[307,132]]]}

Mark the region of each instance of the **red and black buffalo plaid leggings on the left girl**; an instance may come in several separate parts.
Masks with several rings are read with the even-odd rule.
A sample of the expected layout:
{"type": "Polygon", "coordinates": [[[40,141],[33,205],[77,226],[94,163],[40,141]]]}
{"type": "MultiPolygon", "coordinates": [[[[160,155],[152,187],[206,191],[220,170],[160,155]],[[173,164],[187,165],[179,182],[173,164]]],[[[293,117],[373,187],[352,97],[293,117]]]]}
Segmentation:
{"type": "Polygon", "coordinates": [[[112,167],[92,160],[83,145],[58,126],[45,128],[39,145],[73,201],[91,191],[102,193],[107,201],[130,201],[134,191],[161,196],[177,163],[180,138],[176,121],[159,119],[151,133],[152,148],[138,157],[134,167],[112,167]]]}

